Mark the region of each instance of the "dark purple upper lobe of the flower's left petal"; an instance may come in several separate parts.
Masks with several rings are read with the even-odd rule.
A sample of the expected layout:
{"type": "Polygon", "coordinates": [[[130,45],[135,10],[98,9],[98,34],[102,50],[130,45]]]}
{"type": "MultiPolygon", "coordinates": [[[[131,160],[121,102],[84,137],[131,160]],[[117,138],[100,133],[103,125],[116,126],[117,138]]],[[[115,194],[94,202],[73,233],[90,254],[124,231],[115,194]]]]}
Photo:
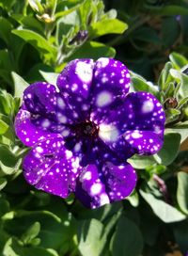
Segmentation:
{"type": "Polygon", "coordinates": [[[32,84],[24,90],[24,107],[32,114],[57,123],[71,124],[78,118],[63,95],[56,92],[55,86],[44,82],[32,84]]]}

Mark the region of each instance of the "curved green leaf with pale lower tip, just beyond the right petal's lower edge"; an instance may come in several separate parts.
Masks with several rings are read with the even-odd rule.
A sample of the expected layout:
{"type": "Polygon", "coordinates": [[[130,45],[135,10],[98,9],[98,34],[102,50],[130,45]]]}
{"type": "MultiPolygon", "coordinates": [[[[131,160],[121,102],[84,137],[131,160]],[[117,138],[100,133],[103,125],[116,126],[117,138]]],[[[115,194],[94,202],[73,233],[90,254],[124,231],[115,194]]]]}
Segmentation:
{"type": "Polygon", "coordinates": [[[180,135],[169,133],[164,135],[164,146],[160,152],[154,154],[155,160],[164,166],[170,165],[180,149],[180,135]]]}

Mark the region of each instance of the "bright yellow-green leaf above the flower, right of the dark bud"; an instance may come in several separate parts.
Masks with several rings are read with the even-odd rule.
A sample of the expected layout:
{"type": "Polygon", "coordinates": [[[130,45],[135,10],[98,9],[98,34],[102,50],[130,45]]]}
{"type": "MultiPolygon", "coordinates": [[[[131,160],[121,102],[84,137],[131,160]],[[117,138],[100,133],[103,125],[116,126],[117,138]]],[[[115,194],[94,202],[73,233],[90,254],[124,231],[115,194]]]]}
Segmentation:
{"type": "Polygon", "coordinates": [[[106,34],[122,34],[127,28],[127,24],[120,22],[118,19],[113,19],[91,24],[88,27],[88,32],[89,37],[94,39],[106,34]]]}

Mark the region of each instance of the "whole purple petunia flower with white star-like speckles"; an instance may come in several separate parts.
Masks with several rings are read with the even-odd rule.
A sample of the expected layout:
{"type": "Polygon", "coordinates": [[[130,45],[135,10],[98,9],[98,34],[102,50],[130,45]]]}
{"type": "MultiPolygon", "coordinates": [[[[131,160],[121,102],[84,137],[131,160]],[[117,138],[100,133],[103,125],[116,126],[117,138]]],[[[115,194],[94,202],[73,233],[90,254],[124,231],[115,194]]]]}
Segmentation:
{"type": "Polygon", "coordinates": [[[15,130],[32,147],[27,182],[62,198],[74,192],[91,208],[129,196],[136,173],[127,158],[158,152],[164,139],[162,105],[148,92],[128,94],[129,87],[127,68],[102,57],[71,61],[57,88],[26,88],[15,130]]]}

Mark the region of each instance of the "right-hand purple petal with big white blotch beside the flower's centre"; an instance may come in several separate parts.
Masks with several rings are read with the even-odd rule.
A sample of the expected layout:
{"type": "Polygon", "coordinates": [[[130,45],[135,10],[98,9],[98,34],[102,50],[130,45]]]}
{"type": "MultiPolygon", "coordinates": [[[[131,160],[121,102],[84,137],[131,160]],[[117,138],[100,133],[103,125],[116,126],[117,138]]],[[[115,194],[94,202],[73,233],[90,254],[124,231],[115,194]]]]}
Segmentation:
{"type": "Polygon", "coordinates": [[[111,149],[127,151],[127,141],[135,153],[153,154],[163,145],[164,109],[148,92],[133,92],[121,98],[116,110],[103,116],[100,136],[111,149]],[[119,139],[122,147],[118,149],[119,139]]]}

